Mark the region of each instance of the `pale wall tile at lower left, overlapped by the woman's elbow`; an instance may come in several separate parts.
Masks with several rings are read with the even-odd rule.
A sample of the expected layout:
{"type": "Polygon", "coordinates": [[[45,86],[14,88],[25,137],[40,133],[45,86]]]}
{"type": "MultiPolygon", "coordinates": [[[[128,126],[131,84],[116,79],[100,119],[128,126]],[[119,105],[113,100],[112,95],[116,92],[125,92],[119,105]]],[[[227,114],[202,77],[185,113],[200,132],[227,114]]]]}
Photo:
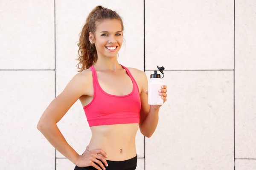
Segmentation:
{"type": "Polygon", "coordinates": [[[1,169],[54,169],[54,147],[36,127],[54,82],[54,71],[0,71],[1,169]]]}

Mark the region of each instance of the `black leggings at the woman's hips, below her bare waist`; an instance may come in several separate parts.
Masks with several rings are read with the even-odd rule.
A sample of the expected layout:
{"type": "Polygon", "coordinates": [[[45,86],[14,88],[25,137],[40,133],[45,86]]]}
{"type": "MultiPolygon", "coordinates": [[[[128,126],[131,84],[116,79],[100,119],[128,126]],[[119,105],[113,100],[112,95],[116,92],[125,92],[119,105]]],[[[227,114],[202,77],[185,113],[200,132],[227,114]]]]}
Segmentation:
{"type": "MultiPolygon", "coordinates": [[[[109,160],[106,160],[108,162],[108,167],[106,167],[105,164],[102,161],[101,162],[104,165],[104,167],[106,168],[106,170],[135,170],[136,167],[137,167],[137,156],[138,155],[136,155],[134,158],[127,159],[127,160],[124,160],[124,161],[109,161],[109,160]]],[[[96,165],[98,165],[98,164],[96,164],[96,165]]],[[[92,167],[92,166],[90,166],[90,167],[78,167],[78,166],[76,166],[74,170],[97,170],[97,169],[95,167],[92,167]]]]}

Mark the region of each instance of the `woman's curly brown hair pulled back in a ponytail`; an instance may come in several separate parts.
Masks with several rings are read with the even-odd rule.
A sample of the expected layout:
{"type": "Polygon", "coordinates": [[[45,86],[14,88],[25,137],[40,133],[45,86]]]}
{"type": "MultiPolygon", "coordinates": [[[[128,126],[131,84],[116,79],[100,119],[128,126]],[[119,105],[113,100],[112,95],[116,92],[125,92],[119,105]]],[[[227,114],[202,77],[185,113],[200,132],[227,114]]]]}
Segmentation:
{"type": "Polygon", "coordinates": [[[79,43],[77,44],[79,46],[79,58],[76,59],[79,60],[79,63],[76,65],[79,69],[78,72],[90,68],[97,61],[98,56],[96,47],[94,44],[90,43],[89,32],[94,34],[96,31],[96,21],[102,21],[105,19],[119,20],[122,26],[122,31],[124,30],[122,18],[116,13],[116,11],[104,8],[103,6],[96,6],[88,15],[79,35],[79,43]],[[79,65],[81,65],[81,68],[79,65]]]}

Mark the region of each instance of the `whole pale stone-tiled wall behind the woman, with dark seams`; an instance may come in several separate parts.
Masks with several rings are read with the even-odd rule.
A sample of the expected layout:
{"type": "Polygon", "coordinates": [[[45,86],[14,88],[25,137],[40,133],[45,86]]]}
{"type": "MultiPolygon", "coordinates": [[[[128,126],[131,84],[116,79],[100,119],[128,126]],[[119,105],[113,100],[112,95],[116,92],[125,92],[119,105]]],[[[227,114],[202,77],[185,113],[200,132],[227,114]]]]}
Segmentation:
{"type": "MultiPolygon", "coordinates": [[[[154,135],[137,133],[137,170],[255,170],[255,0],[0,0],[0,169],[75,167],[36,125],[77,73],[97,5],[123,19],[121,64],[148,77],[166,68],[168,100],[154,135]]],[[[79,101],[58,127],[82,153],[91,134],[79,101]]]]}

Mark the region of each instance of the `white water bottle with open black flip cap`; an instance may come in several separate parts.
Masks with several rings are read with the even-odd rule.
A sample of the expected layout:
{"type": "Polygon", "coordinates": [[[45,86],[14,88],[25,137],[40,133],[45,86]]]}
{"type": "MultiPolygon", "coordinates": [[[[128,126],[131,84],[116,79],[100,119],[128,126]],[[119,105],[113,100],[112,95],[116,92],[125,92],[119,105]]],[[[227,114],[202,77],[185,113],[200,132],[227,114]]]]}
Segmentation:
{"type": "MultiPolygon", "coordinates": [[[[163,74],[164,67],[157,66],[157,68],[163,74]]],[[[163,99],[159,96],[159,90],[163,85],[160,79],[163,79],[163,77],[160,77],[160,74],[157,74],[156,70],[154,74],[150,75],[148,81],[148,105],[163,105],[163,99]]]]}

